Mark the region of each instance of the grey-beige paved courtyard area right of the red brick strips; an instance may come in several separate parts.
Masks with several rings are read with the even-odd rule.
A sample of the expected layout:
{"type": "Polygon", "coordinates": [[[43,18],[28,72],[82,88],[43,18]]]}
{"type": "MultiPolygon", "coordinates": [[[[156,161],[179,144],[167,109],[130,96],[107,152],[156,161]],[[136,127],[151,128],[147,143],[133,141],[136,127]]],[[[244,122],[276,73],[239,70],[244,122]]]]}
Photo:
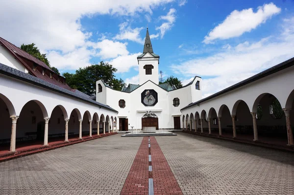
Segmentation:
{"type": "Polygon", "coordinates": [[[177,132],[157,136],[184,195],[294,195],[294,154],[177,132]]]}

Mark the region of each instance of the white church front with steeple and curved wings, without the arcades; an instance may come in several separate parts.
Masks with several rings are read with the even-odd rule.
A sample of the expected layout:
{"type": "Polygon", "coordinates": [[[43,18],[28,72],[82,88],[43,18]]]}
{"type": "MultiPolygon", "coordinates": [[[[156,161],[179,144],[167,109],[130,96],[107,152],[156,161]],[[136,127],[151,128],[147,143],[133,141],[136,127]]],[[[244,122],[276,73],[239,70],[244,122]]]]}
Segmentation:
{"type": "Polygon", "coordinates": [[[139,64],[139,85],[129,84],[121,91],[97,81],[96,101],[118,110],[120,130],[142,129],[155,126],[156,129],[180,129],[183,108],[201,99],[201,78],[184,87],[176,88],[168,83],[159,84],[159,55],[153,52],[147,29],[143,54],[137,57],[139,64]],[[142,123],[142,117],[152,112],[157,119],[142,123]]]}

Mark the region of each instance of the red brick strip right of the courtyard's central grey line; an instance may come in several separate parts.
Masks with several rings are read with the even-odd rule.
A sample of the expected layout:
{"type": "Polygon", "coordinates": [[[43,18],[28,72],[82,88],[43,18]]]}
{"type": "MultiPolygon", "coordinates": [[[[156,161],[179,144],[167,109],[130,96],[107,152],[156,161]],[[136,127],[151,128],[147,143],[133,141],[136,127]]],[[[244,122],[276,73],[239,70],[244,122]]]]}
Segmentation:
{"type": "Polygon", "coordinates": [[[150,137],[154,195],[182,195],[172,170],[155,137],[150,137]]]}

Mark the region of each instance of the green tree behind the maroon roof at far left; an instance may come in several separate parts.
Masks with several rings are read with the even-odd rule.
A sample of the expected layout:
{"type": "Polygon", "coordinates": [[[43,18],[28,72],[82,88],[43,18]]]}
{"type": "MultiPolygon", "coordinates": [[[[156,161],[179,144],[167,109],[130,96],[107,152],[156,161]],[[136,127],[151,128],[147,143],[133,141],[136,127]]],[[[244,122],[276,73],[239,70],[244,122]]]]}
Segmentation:
{"type": "Polygon", "coordinates": [[[60,75],[59,70],[57,68],[50,66],[50,63],[46,57],[46,54],[41,54],[38,47],[35,46],[35,43],[22,44],[20,48],[22,50],[24,50],[26,53],[30,54],[31,56],[44,62],[49,68],[51,68],[52,71],[54,71],[56,74],[60,75]]]}

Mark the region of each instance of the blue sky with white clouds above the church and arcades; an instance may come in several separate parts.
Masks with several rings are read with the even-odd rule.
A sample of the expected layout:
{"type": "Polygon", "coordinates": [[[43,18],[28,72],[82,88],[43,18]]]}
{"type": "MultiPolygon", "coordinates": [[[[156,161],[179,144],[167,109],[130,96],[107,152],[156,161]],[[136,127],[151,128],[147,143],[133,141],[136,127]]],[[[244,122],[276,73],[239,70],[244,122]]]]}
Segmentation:
{"type": "Polygon", "coordinates": [[[147,24],[165,78],[200,76],[203,97],[294,57],[294,0],[36,2],[4,2],[0,36],[36,43],[62,72],[104,61],[138,83],[147,24]]]}

